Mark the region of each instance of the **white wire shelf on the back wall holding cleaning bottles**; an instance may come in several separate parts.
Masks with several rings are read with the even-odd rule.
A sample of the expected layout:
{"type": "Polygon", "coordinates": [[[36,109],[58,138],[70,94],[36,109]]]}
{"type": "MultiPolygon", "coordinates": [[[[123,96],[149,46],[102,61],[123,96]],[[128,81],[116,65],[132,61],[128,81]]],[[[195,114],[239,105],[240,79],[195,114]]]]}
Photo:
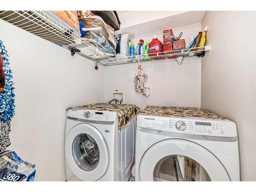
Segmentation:
{"type": "Polygon", "coordinates": [[[197,47],[192,49],[182,49],[182,50],[175,50],[175,51],[165,51],[160,53],[153,53],[147,55],[135,55],[133,57],[116,57],[114,60],[102,59],[96,61],[96,65],[104,65],[104,66],[113,66],[113,65],[120,65],[126,63],[137,63],[138,60],[140,62],[143,61],[152,61],[152,60],[163,60],[163,59],[175,59],[177,57],[191,57],[197,56],[203,51],[210,51],[210,45],[204,47],[197,47]]]}

